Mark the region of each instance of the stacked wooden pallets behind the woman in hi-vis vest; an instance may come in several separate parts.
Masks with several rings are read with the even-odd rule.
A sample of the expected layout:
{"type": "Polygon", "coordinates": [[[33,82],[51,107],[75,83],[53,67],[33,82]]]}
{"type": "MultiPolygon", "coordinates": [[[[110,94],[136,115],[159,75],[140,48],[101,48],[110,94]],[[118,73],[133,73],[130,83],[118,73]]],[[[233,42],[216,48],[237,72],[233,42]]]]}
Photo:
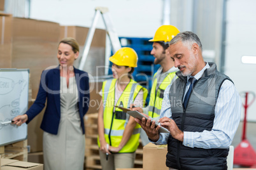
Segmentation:
{"type": "MultiPolygon", "coordinates": [[[[97,145],[97,113],[85,115],[85,168],[87,170],[102,169],[97,145]]],[[[139,142],[136,150],[134,167],[143,166],[143,145],[139,142]]]]}

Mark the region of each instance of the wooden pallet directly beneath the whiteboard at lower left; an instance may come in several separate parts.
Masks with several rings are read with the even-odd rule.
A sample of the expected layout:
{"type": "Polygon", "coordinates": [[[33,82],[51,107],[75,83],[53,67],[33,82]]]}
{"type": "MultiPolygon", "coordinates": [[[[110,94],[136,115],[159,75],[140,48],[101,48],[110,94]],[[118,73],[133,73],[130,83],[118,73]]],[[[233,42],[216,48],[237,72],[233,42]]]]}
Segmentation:
{"type": "Polygon", "coordinates": [[[27,162],[27,140],[0,147],[0,155],[5,159],[17,159],[27,162]]]}

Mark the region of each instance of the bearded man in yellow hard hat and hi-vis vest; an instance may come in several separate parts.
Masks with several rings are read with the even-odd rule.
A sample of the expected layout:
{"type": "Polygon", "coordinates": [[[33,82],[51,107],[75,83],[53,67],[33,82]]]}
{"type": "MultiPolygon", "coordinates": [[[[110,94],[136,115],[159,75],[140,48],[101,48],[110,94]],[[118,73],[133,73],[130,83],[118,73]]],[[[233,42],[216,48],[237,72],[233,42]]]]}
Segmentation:
{"type": "MultiPolygon", "coordinates": [[[[132,110],[138,110],[150,117],[155,121],[158,120],[160,115],[160,110],[162,107],[162,99],[164,98],[164,90],[176,79],[176,71],[178,69],[174,67],[174,62],[169,54],[169,41],[173,39],[176,34],[180,31],[173,25],[162,25],[155,32],[153,39],[153,49],[151,55],[155,57],[154,64],[160,64],[160,68],[153,75],[152,89],[150,92],[150,101],[147,107],[141,108],[136,107],[132,110]]],[[[149,143],[148,136],[146,136],[145,131],[141,131],[141,140],[143,145],[149,143]]]]}

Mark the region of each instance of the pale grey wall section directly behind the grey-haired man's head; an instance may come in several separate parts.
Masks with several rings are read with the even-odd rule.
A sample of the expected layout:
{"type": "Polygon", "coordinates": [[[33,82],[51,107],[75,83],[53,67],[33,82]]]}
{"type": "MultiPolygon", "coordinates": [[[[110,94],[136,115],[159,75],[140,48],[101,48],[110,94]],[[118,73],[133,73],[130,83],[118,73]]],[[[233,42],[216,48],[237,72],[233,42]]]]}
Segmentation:
{"type": "MultiPolygon", "coordinates": [[[[195,32],[203,44],[207,62],[220,67],[224,0],[171,0],[171,24],[195,32]]],[[[220,70],[220,69],[219,69],[220,70]]]]}

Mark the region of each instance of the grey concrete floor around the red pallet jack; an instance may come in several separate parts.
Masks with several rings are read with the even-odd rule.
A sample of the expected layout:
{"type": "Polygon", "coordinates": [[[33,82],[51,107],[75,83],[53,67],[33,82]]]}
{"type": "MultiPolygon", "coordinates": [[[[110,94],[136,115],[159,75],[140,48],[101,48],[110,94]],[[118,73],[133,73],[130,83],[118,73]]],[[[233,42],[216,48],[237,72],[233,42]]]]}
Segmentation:
{"type": "MultiPolygon", "coordinates": [[[[234,148],[236,148],[241,142],[242,133],[243,133],[243,122],[240,122],[238,126],[238,130],[236,131],[236,134],[231,144],[234,146],[234,148]]],[[[249,143],[254,148],[254,151],[256,152],[256,122],[246,123],[246,139],[249,141],[249,143]]],[[[234,165],[234,167],[240,167],[240,166],[234,165]]]]}

